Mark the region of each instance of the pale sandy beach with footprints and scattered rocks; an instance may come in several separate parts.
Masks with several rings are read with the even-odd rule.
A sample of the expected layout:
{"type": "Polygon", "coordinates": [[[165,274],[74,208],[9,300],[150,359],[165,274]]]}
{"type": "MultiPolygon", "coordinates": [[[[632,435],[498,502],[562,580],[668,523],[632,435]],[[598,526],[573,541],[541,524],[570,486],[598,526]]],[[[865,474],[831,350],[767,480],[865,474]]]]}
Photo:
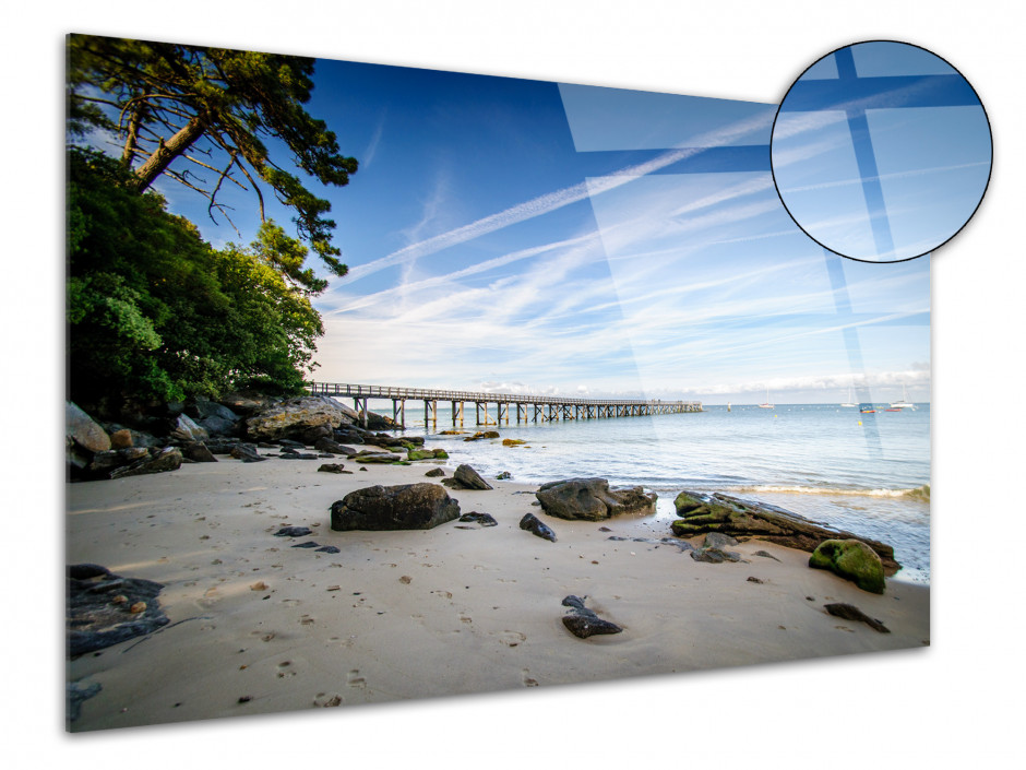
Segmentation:
{"type": "MultiPolygon", "coordinates": [[[[105,730],[469,692],[548,687],[929,644],[929,589],[888,580],[874,595],[808,567],[809,555],[749,541],[737,564],[702,564],[658,540],[666,520],[571,522],[536,487],[450,490],[461,511],[433,530],[333,532],[329,508],[373,484],[423,481],[438,462],[183,465],[68,487],[67,562],[165,584],[170,623],[88,653],[69,682],[99,683],[71,728],[105,730]],[[359,470],[366,467],[366,471],[359,470]],[[534,512],[550,543],[518,528],[534,512]],[[284,525],[309,537],[276,537],[284,525]],[[611,532],[600,531],[607,526],[611,532]],[[339,553],[291,547],[313,540],[339,553]],[[775,558],[757,556],[763,550],[775,558]],[[755,578],[762,582],[750,580],[755,578]],[[585,597],[623,627],[586,640],[561,623],[585,597]],[[828,615],[846,602],[891,633],[828,615]]],[[[451,475],[452,466],[441,465],[451,475]]],[[[695,540],[695,543],[700,538],[695,540]]]]}

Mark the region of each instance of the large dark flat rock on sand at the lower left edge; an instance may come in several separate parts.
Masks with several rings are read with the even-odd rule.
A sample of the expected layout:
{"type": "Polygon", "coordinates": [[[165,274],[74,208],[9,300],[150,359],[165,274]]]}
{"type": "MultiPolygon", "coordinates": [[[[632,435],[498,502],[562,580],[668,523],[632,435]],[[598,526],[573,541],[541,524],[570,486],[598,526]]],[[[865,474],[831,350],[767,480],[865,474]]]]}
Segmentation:
{"type": "Polygon", "coordinates": [[[71,656],[103,650],[168,624],[157,601],[162,583],[124,578],[93,564],[69,566],[67,579],[71,656]],[[114,602],[118,596],[124,601],[114,602]]]}

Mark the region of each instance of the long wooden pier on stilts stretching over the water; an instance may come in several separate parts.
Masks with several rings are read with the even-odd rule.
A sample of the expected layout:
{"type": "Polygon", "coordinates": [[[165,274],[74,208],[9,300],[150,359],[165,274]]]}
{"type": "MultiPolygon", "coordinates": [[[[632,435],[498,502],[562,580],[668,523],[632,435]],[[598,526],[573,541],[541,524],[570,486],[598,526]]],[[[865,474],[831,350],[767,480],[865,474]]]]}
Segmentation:
{"type": "Polygon", "coordinates": [[[452,404],[453,427],[462,427],[465,404],[474,404],[475,425],[509,425],[510,412],[515,412],[516,424],[554,423],[571,419],[611,419],[613,417],[642,417],[653,414],[702,412],[701,401],[636,401],[631,399],[573,399],[549,395],[513,395],[511,393],[474,393],[460,390],[429,390],[425,388],[387,388],[383,386],[343,384],[339,382],[311,382],[310,393],[353,399],[354,408],[367,426],[367,402],[371,399],[392,401],[392,419],[406,427],[406,402],[423,402],[423,423],[438,426],[438,402],[452,404]],[[489,404],[494,410],[489,412],[489,404]]]}

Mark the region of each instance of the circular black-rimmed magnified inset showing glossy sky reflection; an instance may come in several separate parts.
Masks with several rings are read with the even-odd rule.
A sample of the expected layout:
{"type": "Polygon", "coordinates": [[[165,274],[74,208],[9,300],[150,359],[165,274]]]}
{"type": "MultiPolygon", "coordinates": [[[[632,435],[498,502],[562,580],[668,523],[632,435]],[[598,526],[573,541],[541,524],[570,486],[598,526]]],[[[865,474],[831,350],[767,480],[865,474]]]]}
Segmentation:
{"type": "Polygon", "coordinates": [[[993,145],[983,105],[951,64],[907,43],[858,43],[806,70],[780,103],[773,180],[806,234],[843,257],[898,262],[976,212],[993,145]]]}

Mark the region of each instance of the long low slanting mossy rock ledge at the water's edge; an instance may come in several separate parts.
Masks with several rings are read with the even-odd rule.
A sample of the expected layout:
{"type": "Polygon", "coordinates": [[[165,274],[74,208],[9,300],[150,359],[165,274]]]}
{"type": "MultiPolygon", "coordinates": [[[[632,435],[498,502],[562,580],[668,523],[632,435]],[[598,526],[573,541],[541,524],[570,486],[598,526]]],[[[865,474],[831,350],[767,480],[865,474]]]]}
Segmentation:
{"type": "Polygon", "coordinates": [[[860,540],[880,556],[886,574],[894,574],[902,567],[894,560],[894,548],[885,543],[833,530],[776,506],[695,491],[680,493],[673,505],[682,517],[671,525],[678,537],[721,532],[733,537],[757,537],[809,553],[825,540],[860,540]]]}

